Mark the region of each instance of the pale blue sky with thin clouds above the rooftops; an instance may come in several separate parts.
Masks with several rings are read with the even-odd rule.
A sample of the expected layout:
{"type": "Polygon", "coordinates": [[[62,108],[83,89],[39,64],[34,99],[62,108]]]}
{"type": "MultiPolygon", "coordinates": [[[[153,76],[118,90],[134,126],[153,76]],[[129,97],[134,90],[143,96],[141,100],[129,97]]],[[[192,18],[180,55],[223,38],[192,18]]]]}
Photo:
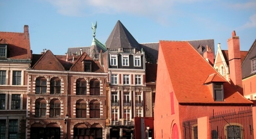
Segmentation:
{"type": "Polygon", "coordinates": [[[227,50],[235,30],[242,51],[256,39],[256,0],[0,0],[0,32],[29,26],[34,54],[90,46],[92,22],[103,44],[120,20],[138,43],[214,39],[227,50]]]}

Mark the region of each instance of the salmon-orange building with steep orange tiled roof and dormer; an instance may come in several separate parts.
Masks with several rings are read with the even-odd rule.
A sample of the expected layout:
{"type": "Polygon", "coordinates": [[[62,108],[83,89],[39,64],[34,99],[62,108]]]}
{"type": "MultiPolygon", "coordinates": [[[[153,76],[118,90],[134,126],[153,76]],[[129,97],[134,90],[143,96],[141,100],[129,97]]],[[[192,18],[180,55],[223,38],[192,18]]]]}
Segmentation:
{"type": "MultiPolygon", "coordinates": [[[[236,46],[234,39],[228,40],[230,47],[236,46]]],[[[229,65],[234,66],[230,70],[238,65],[241,68],[240,59],[234,56],[229,56],[229,65]]],[[[222,116],[223,122],[213,124],[218,113],[234,110],[245,114],[241,109],[250,109],[253,103],[237,91],[239,88],[227,82],[191,44],[160,41],[158,58],[154,139],[253,139],[251,116],[246,120],[250,121],[247,125],[242,120],[235,120],[236,114],[231,118],[222,116]]],[[[230,76],[232,80],[234,76],[230,76]]]]}

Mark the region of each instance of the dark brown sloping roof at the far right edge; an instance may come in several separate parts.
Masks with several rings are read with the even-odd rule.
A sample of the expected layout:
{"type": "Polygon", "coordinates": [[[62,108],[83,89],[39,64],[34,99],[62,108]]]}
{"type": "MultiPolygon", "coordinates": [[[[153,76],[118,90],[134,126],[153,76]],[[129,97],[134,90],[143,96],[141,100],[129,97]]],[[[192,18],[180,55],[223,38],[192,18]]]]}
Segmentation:
{"type": "Polygon", "coordinates": [[[256,58],[256,39],[251,45],[247,55],[242,61],[242,79],[256,75],[256,72],[251,72],[251,59],[256,58]]]}

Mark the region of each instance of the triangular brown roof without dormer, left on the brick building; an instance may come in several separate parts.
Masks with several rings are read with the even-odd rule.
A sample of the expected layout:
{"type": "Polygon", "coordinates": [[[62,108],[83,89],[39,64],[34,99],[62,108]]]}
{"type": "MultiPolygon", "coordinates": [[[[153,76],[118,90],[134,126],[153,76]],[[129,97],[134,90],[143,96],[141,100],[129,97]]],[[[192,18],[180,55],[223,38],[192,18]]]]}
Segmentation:
{"type": "Polygon", "coordinates": [[[65,71],[62,63],[60,63],[50,50],[46,51],[31,69],[65,71]]]}

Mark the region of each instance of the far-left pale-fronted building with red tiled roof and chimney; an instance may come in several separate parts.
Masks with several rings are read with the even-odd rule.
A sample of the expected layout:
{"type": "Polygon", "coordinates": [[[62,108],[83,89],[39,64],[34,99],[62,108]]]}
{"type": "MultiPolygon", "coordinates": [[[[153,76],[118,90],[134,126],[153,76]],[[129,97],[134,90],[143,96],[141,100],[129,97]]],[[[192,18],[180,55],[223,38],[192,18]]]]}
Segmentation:
{"type": "Polygon", "coordinates": [[[24,32],[0,32],[0,139],[24,139],[31,50],[24,32]]]}

